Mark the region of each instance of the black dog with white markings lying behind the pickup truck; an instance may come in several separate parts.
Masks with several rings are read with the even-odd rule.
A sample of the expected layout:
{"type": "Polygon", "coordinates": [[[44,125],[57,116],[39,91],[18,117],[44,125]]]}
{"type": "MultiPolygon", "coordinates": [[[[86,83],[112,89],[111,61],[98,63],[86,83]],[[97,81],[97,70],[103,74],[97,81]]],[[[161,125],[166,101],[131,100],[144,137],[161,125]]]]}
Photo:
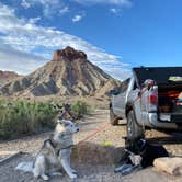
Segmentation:
{"type": "Polygon", "coordinates": [[[122,172],[122,174],[152,166],[156,158],[169,157],[163,146],[151,145],[145,139],[129,140],[125,138],[125,155],[121,160],[122,166],[114,170],[122,172]]]}

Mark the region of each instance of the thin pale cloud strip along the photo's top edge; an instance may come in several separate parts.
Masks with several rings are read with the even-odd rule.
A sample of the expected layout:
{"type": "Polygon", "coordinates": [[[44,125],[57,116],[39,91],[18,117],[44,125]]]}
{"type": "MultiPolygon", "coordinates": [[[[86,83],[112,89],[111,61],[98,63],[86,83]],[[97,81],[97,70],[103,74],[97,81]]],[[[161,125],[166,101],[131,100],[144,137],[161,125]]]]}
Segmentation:
{"type": "Polygon", "coordinates": [[[104,4],[115,4],[115,5],[126,5],[130,7],[132,1],[130,0],[72,0],[82,4],[96,4],[96,3],[104,3],[104,4]]]}

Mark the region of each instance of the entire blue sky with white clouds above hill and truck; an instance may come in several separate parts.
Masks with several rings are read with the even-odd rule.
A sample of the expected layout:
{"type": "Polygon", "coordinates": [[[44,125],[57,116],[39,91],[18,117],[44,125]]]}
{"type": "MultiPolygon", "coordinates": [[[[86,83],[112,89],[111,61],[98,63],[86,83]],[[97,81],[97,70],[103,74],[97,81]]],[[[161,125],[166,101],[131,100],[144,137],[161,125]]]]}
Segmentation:
{"type": "Polygon", "coordinates": [[[181,66],[181,0],[0,0],[0,69],[30,73],[72,46],[115,78],[181,66]]]}

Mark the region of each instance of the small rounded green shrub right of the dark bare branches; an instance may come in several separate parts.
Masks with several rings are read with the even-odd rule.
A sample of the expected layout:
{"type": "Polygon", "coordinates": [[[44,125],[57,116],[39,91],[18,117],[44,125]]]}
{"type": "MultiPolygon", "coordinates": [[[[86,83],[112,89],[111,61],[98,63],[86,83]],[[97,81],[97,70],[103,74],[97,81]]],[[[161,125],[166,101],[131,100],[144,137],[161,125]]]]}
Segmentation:
{"type": "Polygon", "coordinates": [[[78,100],[71,105],[71,112],[76,118],[80,118],[91,112],[91,106],[84,101],[78,100]]]}

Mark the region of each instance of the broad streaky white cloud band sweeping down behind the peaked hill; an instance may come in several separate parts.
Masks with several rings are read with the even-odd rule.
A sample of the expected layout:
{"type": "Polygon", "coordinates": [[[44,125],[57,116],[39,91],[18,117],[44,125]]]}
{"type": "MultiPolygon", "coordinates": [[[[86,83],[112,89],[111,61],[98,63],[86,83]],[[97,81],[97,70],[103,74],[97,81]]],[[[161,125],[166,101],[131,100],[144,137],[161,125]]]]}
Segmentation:
{"type": "Polygon", "coordinates": [[[54,27],[38,26],[36,21],[19,19],[13,9],[2,3],[0,3],[0,69],[13,67],[18,72],[22,72],[22,70],[24,72],[34,71],[43,61],[45,62],[45,60],[52,58],[53,50],[65,48],[66,46],[83,50],[87,53],[89,60],[112,76],[116,73],[117,78],[123,78],[123,69],[128,67],[128,65],[118,60],[121,57],[109,54],[77,36],[54,27]],[[10,53],[2,48],[3,45],[9,45],[10,53]],[[16,53],[15,56],[13,56],[14,52],[16,53]],[[15,60],[20,59],[16,67],[10,64],[10,60],[13,61],[13,57],[15,57],[15,60]],[[20,62],[23,62],[23,68],[20,62]],[[30,66],[31,62],[32,66],[30,66]],[[113,68],[120,71],[113,71],[113,68]]]}

